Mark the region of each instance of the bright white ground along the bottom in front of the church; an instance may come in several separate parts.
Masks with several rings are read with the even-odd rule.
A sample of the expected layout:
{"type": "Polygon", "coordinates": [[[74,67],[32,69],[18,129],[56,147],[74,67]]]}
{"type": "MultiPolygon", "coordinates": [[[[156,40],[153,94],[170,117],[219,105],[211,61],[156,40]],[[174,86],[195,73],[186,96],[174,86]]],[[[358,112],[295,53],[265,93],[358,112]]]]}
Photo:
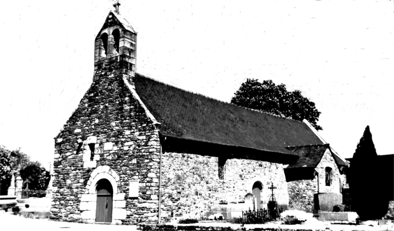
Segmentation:
{"type": "MultiPolygon", "coordinates": [[[[31,229],[39,229],[39,230],[51,230],[57,231],[63,229],[70,230],[95,230],[95,231],[131,231],[133,230],[131,226],[114,226],[114,225],[96,225],[96,224],[82,224],[82,223],[73,223],[73,222],[57,222],[51,221],[48,219],[29,219],[23,218],[20,216],[14,216],[7,213],[0,212],[0,221],[1,221],[1,230],[31,230],[31,229]]],[[[306,225],[278,225],[278,224],[266,224],[266,225],[245,225],[244,227],[240,227],[238,224],[229,224],[229,223],[209,223],[209,224],[192,224],[192,226],[215,226],[212,230],[222,230],[218,229],[219,227],[230,227],[228,230],[297,230],[297,231],[313,231],[313,230],[326,230],[326,231],[384,231],[384,230],[392,230],[394,228],[392,225],[331,225],[324,222],[317,222],[313,224],[306,225]]],[[[178,226],[187,226],[187,225],[178,225],[178,226]]],[[[180,230],[178,228],[178,230],[180,230]]],[[[227,229],[223,229],[227,230],[227,229]]]]}

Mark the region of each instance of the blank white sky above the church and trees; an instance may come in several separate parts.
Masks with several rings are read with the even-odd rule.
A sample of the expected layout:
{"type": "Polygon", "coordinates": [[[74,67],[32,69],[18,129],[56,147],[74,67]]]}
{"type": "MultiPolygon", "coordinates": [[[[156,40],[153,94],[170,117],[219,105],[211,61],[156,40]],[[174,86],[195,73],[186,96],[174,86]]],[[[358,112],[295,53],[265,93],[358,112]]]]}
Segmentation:
{"type": "MultiPolygon", "coordinates": [[[[246,78],[299,89],[319,133],[352,157],[366,125],[392,154],[394,2],[121,0],[138,32],[137,72],[229,102],[246,78]]],[[[52,160],[53,138],[93,79],[111,0],[0,1],[0,144],[52,160]]]]}

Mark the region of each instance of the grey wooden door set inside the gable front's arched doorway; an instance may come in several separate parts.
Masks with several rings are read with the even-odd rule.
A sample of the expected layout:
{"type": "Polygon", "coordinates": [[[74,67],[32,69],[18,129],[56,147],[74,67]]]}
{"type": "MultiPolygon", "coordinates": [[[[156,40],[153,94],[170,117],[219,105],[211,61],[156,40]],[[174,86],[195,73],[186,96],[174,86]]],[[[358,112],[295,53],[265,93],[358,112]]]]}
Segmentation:
{"type": "Polygon", "coordinates": [[[112,222],[112,193],[105,188],[97,192],[96,222],[112,222]]]}

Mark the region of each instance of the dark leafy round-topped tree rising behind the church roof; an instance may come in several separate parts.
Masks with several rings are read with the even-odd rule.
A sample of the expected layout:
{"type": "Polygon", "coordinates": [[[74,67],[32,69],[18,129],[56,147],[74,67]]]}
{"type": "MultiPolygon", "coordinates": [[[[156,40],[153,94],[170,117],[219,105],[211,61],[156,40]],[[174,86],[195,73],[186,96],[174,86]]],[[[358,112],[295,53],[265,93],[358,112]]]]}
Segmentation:
{"type": "Polygon", "coordinates": [[[272,80],[260,83],[256,79],[246,79],[231,103],[299,121],[306,119],[316,130],[322,130],[317,124],[321,113],[315,103],[302,96],[299,90],[288,91],[284,84],[275,85],[272,80]]]}

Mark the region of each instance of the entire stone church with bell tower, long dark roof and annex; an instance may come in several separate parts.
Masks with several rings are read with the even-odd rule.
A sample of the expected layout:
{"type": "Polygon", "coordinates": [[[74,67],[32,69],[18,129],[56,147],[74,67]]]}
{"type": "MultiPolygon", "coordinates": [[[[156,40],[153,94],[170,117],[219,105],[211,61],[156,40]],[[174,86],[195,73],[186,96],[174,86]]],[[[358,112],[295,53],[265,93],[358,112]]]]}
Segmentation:
{"type": "Polygon", "coordinates": [[[139,225],[213,207],[311,210],[341,191],[344,159],[309,124],[139,75],[137,33],[110,11],[93,83],[55,137],[51,219],[139,225]],[[249,198],[252,198],[250,203],[249,198]]]}

